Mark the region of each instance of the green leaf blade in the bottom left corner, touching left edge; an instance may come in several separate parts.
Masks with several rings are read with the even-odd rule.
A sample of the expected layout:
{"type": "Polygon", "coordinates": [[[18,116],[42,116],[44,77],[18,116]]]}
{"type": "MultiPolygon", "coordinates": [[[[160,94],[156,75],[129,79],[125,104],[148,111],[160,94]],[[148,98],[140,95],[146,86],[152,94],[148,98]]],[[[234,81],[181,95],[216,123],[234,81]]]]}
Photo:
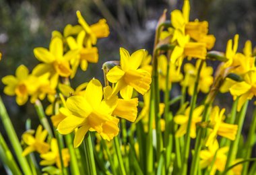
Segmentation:
{"type": "Polygon", "coordinates": [[[1,133],[0,133],[0,157],[3,164],[8,166],[9,170],[11,170],[13,174],[18,174],[18,175],[22,174],[22,172],[20,172],[18,165],[15,162],[15,159],[11,151],[9,150],[9,147],[5,143],[5,140],[3,139],[3,135],[1,133]]]}

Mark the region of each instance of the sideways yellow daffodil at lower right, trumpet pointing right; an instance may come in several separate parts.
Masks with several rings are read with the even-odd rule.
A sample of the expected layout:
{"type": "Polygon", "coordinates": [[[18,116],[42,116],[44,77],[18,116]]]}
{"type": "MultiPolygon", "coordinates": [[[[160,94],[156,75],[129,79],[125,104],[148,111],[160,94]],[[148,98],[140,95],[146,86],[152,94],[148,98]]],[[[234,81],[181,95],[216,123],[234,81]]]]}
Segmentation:
{"type": "Polygon", "coordinates": [[[224,112],[224,108],[222,110],[220,110],[218,106],[213,108],[210,116],[210,126],[212,126],[213,129],[211,129],[210,134],[207,137],[207,141],[205,143],[206,146],[213,144],[217,135],[226,137],[232,141],[236,139],[238,126],[223,122],[224,112]]]}

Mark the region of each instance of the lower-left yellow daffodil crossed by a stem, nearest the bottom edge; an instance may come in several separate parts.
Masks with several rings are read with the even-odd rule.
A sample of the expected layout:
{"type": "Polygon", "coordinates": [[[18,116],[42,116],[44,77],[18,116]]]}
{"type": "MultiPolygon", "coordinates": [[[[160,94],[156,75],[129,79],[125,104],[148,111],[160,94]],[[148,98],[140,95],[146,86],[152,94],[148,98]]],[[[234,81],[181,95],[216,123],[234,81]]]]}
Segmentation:
{"type": "Polygon", "coordinates": [[[63,161],[63,166],[64,167],[69,166],[69,161],[70,161],[69,149],[67,148],[61,149],[61,157],[60,157],[58,142],[57,142],[57,139],[55,138],[51,139],[51,151],[47,153],[41,153],[40,157],[43,159],[40,162],[40,166],[51,166],[56,164],[57,168],[61,170],[61,157],[63,161]]]}

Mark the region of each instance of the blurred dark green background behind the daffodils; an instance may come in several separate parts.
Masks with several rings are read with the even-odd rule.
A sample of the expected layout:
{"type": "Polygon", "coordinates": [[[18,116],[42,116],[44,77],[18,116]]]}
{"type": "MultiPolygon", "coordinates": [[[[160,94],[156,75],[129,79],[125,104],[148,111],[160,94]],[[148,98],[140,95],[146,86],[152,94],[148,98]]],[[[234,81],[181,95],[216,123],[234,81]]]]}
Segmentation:
{"type": "MultiPolygon", "coordinates": [[[[99,63],[90,64],[88,71],[79,71],[72,85],[88,81],[92,77],[102,79],[102,63],[119,59],[119,47],[133,52],[146,48],[152,53],[154,29],[162,11],[181,9],[181,0],[0,0],[0,62],[1,78],[15,73],[15,69],[26,65],[30,71],[38,64],[33,48],[48,48],[53,30],[63,31],[67,24],[77,24],[75,11],[80,10],[88,24],[94,24],[102,17],[110,26],[110,36],[98,40],[99,63]]],[[[209,22],[210,34],[216,36],[213,50],[226,50],[226,42],[234,34],[240,34],[239,50],[242,51],[246,40],[252,40],[255,46],[256,1],[254,0],[195,0],[191,1],[191,20],[209,22]]],[[[218,63],[210,62],[216,67],[218,63]]],[[[34,107],[29,102],[18,106],[14,97],[1,96],[13,121],[18,136],[25,130],[25,121],[32,119],[32,126],[38,124],[34,107]]],[[[224,94],[216,104],[230,108],[232,98],[224,94]]],[[[252,106],[252,105],[251,105],[252,106]]],[[[251,112],[245,123],[245,132],[251,112]]],[[[0,131],[4,134],[0,121],[0,131]]],[[[0,167],[1,168],[1,167],[0,167]]],[[[2,172],[1,172],[2,174],[2,172]]]]}

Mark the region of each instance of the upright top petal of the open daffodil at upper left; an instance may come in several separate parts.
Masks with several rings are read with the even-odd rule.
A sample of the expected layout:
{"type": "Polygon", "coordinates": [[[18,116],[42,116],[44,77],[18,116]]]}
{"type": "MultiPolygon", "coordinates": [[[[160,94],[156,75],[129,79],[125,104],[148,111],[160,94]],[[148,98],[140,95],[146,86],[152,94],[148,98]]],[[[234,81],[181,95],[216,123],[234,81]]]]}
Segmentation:
{"type": "Polygon", "coordinates": [[[56,59],[61,59],[63,57],[63,42],[61,38],[53,38],[53,40],[51,40],[49,50],[56,59]]]}

